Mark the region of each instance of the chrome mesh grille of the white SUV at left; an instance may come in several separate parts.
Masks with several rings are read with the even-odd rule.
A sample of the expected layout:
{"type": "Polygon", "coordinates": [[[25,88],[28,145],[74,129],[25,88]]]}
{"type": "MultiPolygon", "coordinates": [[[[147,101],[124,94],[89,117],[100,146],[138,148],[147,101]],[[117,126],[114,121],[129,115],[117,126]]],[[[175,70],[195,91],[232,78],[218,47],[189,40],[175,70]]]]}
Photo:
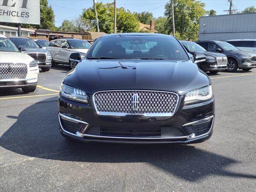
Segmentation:
{"type": "Polygon", "coordinates": [[[23,63],[0,63],[0,79],[24,79],[28,69],[23,63]]]}

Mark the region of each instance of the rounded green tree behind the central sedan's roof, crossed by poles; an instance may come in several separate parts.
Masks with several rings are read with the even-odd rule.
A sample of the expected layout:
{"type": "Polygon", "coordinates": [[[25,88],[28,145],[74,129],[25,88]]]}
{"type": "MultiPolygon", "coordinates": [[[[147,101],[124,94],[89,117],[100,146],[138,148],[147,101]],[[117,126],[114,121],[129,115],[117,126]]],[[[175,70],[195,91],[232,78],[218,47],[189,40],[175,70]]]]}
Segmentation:
{"type": "MultiPolygon", "coordinates": [[[[96,9],[98,12],[98,22],[101,32],[113,33],[114,32],[114,3],[102,2],[96,4],[96,9]]],[[[129,11],[125,10],[123,7],[116,9],[116,26],[117,32],[138,32],[139,23],[137,18],[129,11]]],[[[94,11],[94,6],[84,9],[82,17],[90,26],[94,27],[96,30],[96,16],[94,11]]]]}

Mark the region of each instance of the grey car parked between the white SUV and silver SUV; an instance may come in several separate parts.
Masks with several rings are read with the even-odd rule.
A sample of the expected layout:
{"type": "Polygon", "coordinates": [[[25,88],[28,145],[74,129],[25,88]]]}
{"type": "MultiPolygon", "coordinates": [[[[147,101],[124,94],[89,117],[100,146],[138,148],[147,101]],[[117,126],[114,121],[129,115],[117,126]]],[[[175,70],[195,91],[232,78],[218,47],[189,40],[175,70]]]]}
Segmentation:
{"type": "Polygon", "coordinates": [[[52,56],[49,51],[42,49],[32,39],[26,37],[10,37],[19,47],[25,48],[26,54],[34,58],[42,71],[49,71],[52,66],[52,56]]]}

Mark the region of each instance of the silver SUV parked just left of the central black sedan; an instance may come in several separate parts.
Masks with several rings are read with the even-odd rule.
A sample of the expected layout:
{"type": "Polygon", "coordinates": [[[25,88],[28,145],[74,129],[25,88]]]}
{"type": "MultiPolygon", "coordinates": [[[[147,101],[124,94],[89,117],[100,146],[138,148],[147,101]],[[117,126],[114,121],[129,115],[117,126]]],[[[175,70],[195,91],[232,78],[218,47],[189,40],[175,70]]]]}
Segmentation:
{"type": "Polygon", "coordinates": [[[81,58],[84,58],[91,44],[86,40],[80,39],[56,39],[50,42],[46,50],[52,54],[52,62],[55,64],[66,64],[71,69],[77,65],[76,61],[70,60],[69,56],[73,52],[80,52],[81,58]]]}

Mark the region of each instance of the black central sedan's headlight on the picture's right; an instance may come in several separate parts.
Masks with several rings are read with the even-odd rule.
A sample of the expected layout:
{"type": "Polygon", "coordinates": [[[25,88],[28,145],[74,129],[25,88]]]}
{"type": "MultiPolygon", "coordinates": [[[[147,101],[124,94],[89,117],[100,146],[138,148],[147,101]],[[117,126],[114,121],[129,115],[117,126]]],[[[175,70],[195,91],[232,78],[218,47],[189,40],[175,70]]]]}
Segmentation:
{"type": "Polygon", "coordinates": [[[185,104],[200,102],[212,98],[212,86],[192,90],[186,94],[185,104]]]}

